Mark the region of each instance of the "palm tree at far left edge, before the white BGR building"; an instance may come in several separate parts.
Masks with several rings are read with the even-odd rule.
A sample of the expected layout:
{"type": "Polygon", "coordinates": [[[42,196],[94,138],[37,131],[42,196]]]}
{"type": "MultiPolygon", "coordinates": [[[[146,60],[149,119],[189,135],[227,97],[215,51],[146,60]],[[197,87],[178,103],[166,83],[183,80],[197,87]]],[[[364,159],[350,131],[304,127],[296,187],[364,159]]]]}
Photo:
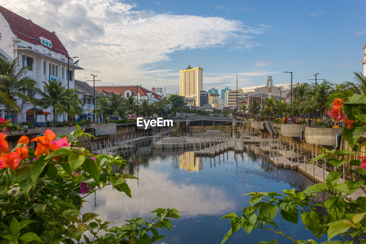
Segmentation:
{"type": "Polygon", "coordinates": [[[18,58],[13,61],[0,58],[0,104],[7,109],[9,116],[10,110],[20,111],[19,100],[35,104],[36,93],[40,92],[37,81],[27,75],[29,66],[18,70],[18,58]]]}

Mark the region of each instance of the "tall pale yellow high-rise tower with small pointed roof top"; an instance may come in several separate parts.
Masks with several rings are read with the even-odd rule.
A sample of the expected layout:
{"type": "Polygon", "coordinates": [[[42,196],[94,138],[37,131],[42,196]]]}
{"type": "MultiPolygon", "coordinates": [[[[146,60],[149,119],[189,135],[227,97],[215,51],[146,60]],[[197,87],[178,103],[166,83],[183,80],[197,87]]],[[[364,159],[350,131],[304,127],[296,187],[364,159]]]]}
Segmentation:
{"type": "Polygon", "coordinates": [[[196,104],[199,104],[199,91],[203,89],[203,69],[197,67],[192,69],[190,65],[185,70],[179,71],[179,95],[193,97],[196,104]]]}

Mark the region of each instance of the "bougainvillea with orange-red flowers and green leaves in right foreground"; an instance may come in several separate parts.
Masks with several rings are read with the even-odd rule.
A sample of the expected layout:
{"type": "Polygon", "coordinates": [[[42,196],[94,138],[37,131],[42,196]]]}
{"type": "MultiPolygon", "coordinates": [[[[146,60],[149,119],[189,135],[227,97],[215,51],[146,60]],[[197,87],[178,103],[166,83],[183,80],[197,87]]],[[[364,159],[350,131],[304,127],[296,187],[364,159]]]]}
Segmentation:
{"type": "MultiPolygon", "coordinates": [[[[366,95],[352,95],[349,90],[329,96],[333,100],[332,109],[328,115],[337,121],[344,119],[346,126],[343,128],[343,138],[348,144],[358,151],[364,149],[366,142],[357,146],[358,138],[364,132],[366,124],[366,95]]],[[[330,171],[325,182],[315,184],[303,192],[295,193],[294,189],[282,192],[251,192],[244,195],[251,196],[249,207],[243,209],[243,214],[227,214],[222,218],[230,219],[231,229],[225,234],[221,243],[224,243],[236,231],[243,229],[249,235],[255,228],[264,229],[284,236],[288,243],[317,244],[316,239],[327,235],[328,241],[333,244],[365,244],[366,240],[366,197],[358,196],[356,200],[348,201],[347,196],[357,190],[366,194],[366,156],[349,160],[349,155],[355,152],[347,150],[328,150],[312,159],[326,159],[336,169],[343,165],[347,178],[340,181],[343,173],[330,171]],[[362,160],[362,161],[361,161],[362,160]],[[346,167],[347,166],[347,167],[346,167]],[[355,169],[354,169],[355,167],[355,169]],[[328,192],[329,199],[324,203],[311,203],[311,198],[318,192],[328,192]],[[324,214],[324,213],[328,214],[324,214]],[[288,222],[298,224],[302,221],[306,229],[314,235],[308,240],[295,240],[292,233],[285,233],[281,226],[273,221],[276,215],[288,222]]],[[[362,152],[362,151],[361,151],[362,152]]],[[[365,153],[365,152],[363,152],[365,153]]],[[[265,237],[264,237],[265,238],[265,237]]],[[[264,240],[260,244],[276,244],[277,240],[264,240]]]]}

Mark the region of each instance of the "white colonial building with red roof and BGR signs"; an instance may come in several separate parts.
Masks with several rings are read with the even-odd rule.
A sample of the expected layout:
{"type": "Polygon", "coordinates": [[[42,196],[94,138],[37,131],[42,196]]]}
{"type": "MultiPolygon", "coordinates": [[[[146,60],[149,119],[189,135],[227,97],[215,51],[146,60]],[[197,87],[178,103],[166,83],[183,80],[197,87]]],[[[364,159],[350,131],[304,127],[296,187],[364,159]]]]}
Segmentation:
{"type": "MultiPolygon", "coordinates": [[[[28,75],[37,81],[40,89],[44,90],[42,82],[57,80],[63,85],[74,88],[74,71],[82,69],[74,65],[66,48],[56,33],[36,25],[30,19],[11,12],[0,6],[0,58],[14,60],[18,58],[18,68],[29,66],[28,75]],[[67,72],[68,63],[70,70],[67,72]]],[[[35,96],[36,98],[37,95],[35,96]]],[[[45,125],[47,120],[63,121],[66,114],[57,114],[52,118],[52,108],[39,111],[39,107],[19,101],[21,112],[11,111],[5,114],[5,107],[0,107],[0,116],[9,119],[14,124],[22,121],[45,125]]]]}

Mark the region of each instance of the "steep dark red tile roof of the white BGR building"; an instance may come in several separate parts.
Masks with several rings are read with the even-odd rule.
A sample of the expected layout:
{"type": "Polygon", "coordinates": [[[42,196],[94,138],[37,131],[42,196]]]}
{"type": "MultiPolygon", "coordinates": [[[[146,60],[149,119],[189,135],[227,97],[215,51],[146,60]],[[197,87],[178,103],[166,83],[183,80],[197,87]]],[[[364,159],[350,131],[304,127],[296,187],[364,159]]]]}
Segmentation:
{"type": "Polygon", "coordinates": [[[35,45],[42,45],[40,37],[44,37],[51,40],[52,48],[45,45],[42,45],[42,47],[47,47],[49,50],[61,53],[68,58],[67,50],[61,43],[60,39],[56,36],[55,32],[49,32],[41,26],[33,23],[30,19],[25,19],[2,6],[0,6],[0,13],[9,23],[12,32],[18,36],[20,40],[27,41],[35,45]]]}

